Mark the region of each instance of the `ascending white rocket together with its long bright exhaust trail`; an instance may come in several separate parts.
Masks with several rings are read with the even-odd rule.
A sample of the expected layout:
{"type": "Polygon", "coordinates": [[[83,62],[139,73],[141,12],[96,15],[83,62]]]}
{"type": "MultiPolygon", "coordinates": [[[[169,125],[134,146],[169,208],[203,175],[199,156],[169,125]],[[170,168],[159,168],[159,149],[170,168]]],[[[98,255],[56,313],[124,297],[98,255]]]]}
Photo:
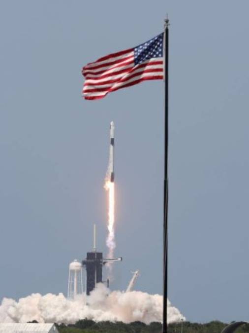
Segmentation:
{"type": "MultiPolygon", "coordinates": [[[[111,122],[110,126],[110,154],[109,154],[109,163],[105,177],[104,188],[108,191],[108,235],[106,238],[106,245],[108,247],[109,258],[113,258],[114,249],[116,247],[115,243],[115,232],[114,232],[114,122],[111,122]]],[[[107,267],[111,265],[107,264],[107,267]]]]}

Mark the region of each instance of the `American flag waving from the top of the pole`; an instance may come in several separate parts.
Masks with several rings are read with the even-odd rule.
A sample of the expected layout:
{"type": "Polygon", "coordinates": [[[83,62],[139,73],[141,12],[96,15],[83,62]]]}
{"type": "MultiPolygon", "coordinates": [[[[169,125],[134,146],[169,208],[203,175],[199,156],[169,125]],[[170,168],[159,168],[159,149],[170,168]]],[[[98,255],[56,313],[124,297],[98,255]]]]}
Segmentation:
{"type": "Polygon", "coordinates": [[[163,33],[134,48],[109,54],[82,69],[82,95],[87,100],[144,80],[163,78],[163,33]]]}

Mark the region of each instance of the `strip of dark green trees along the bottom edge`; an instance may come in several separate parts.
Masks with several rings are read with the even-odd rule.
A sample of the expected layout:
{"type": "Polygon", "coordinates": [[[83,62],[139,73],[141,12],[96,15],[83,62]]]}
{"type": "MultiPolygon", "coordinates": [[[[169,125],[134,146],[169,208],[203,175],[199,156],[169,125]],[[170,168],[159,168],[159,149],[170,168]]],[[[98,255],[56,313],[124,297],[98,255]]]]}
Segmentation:
{"type": "MultiPolygon", "coordinates": [[[[228,324],[221,323],[219,321],[212,321],[206,324],[197,324],[184,322],[183,331],[182,323],[170,324],[168,326],[168,333],[221,333],[224,327],[228,324]]],[[[75,324],[57,325],[57,329],[60,333],[161,333],[160,323],[151,323],[146,325],[141,322],[134,322],[125,324],[123,322],[98,322],[93,320],[82,319],[75,324]]],[[[236,333],[249,333],[249,324],[241,326],[236,333]]]]}

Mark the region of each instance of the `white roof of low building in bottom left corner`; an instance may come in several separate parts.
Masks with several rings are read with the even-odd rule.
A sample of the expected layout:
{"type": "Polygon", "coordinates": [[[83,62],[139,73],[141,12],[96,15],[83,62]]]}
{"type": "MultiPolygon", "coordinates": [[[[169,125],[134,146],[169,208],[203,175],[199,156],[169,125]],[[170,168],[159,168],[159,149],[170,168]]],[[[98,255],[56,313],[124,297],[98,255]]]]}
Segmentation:
{"type": "Polygon", "coordinates": [[[55,324],[0,324],[0,333],[59,333],[55,324]]]}

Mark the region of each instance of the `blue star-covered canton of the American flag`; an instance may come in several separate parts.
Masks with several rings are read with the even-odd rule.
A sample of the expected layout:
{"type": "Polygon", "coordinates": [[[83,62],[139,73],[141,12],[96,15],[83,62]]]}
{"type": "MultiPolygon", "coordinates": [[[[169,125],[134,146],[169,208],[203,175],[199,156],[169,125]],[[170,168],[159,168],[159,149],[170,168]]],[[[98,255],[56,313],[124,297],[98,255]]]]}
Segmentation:
{"type": "Polygon", "coordinates": [[[163,54],[163,33],[140,44],[134,48],[135,65],[141,64],[152,58],[162,57],[163,54]]]}

